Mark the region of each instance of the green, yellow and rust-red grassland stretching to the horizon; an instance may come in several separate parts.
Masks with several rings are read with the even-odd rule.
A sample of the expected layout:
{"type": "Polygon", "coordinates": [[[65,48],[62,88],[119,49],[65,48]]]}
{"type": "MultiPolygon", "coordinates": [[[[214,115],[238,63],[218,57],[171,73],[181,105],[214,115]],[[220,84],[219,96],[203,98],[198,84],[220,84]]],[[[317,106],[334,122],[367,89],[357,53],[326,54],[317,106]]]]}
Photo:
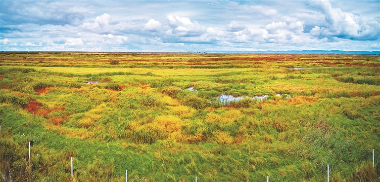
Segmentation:
{"type": "Polygon", "coordinates": [[[379,85],[377,55],[2,52],[1,181],[379,182],[379,85]]]}

